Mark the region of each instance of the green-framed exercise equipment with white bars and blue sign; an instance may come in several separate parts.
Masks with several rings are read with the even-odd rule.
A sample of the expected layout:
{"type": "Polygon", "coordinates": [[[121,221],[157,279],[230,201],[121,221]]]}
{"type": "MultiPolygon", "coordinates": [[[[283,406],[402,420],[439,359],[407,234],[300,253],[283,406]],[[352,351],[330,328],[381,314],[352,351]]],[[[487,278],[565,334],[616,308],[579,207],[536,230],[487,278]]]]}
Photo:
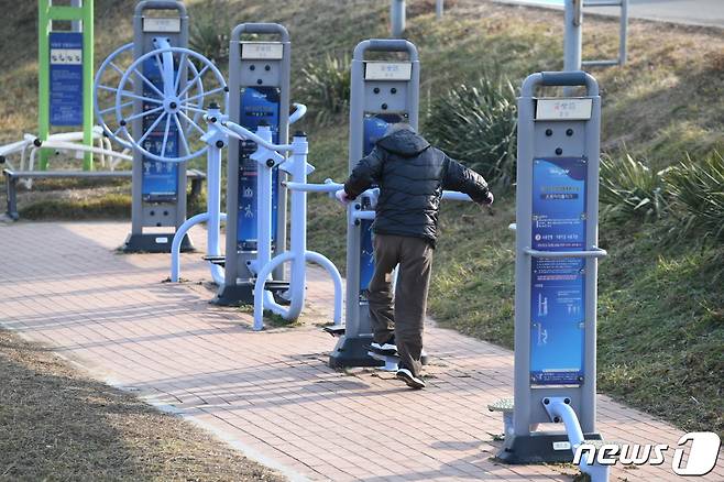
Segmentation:
{"type": "MultiPolygon", "coordinates": [[[[19,171],[46,171],[53,152],[73,152],[84,160],[84,171],[94,169],[94,154],[111,169],[125,154],[114,152],[102,129],[94,125],[94,0],[53,4],[39,0],[37,134],[0,146],[0,163],[10,168],[19,154],[19,171]],[[67,26],[64,29],[64,23],[67,26]],[[79,132],[52,133],[52,128],[81,127],[79,132]]],[[[28,187],[31,182],[28,179],[28,187]]]]}

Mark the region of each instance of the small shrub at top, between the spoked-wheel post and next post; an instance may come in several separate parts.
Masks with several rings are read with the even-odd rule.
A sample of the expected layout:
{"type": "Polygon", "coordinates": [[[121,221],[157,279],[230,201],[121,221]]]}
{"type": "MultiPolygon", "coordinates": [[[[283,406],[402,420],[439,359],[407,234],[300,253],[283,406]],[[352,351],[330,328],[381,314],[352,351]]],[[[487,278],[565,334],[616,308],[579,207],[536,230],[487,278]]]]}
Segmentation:
{"type": "Polygon", "coordinates": [[[228,0],[211,0],[196,6],[189,13],[193,19],[189,23],[189,46],[217,65],[229,61],[231,19],[226,12],[230,11],[228,0]]]}

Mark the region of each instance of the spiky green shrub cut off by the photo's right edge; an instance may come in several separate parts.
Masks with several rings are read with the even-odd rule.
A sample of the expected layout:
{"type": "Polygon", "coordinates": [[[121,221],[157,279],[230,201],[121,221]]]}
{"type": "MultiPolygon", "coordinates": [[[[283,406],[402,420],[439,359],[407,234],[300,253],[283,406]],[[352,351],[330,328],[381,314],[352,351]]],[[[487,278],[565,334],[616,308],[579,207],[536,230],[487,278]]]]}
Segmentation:
{"type": "Polygon", "coordinates": [[[678,222],[677,235],[696,234],[724,240],[724,158],[714,153],[702,162],[687,161],[666,175],[678,222]]]}

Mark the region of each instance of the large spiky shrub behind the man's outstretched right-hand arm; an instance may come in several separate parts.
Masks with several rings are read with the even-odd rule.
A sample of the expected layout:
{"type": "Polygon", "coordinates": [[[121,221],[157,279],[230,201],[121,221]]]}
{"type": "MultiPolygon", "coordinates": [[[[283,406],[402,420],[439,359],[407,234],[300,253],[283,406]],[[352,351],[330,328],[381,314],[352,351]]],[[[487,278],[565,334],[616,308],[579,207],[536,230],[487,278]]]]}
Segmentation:
{"type": "Polygon", "coordinates": [[[425,134],[448,155],[480,172],[492,184],[515,175],[517,113],[507,79],[460,85],[435,100],[425,134]]]}

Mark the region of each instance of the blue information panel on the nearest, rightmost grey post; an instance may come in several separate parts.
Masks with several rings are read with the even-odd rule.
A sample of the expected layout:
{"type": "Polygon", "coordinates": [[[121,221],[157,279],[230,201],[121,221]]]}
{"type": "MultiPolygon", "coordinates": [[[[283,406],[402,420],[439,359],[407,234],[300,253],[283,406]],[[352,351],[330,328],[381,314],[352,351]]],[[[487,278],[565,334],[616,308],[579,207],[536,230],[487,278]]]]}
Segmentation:
{"type": "MultiPolygon", "coordinates": [[[[533,249],[585,249],[585,160],[534,160],[533,249]]],[[[534,258],[530,278],[531,383],[580,384],[584,376],[585,260],[534,258]]]]}

